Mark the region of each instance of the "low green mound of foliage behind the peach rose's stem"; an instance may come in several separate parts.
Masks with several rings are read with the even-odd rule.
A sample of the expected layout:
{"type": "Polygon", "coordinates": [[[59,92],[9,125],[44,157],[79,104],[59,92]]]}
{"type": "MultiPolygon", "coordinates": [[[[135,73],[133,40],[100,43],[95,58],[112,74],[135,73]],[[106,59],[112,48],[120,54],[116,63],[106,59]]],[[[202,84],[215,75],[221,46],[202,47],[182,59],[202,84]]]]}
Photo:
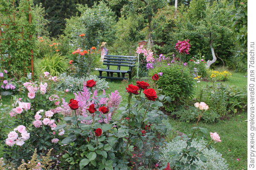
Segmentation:
{"type": "MultiPolygon", "coordinates": [[[[175,115],[179,121],[184,122],[195,122],[198,117],[198,109],[191,106],[182,106],[177,108],[175,112],[172,112],[172,115],[175,115]]],[[[206,112],[204,112],[202,119],[204,122],[216,122],[218,121],[220,115],[216,113],[212,108],[209,108],[206,112]]]]}

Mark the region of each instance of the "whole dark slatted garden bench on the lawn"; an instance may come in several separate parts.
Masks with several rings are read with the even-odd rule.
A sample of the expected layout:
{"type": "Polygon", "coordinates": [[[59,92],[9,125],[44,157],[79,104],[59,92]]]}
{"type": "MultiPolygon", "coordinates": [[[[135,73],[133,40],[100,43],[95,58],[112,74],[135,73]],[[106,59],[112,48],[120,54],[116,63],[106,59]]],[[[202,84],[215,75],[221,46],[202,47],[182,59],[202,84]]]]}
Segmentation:
{"type": "Polygon", "coordinates": [[[106,69],[96,69],[99,71],[99,78],[108,79],[127,79],[125,78],[125,73],[129,74],[129,79],[131,79],[131,69],[135,66],[136,56],[124,56],[124,55],[105,55],[103,65],[106,65],[106,69]],[[117,66],[117,69],[110,69],[110,66],[117,66]],[[122,67],[129,67],[128,70],[121,70],[122,67]],[[107,72],[107,77],[102,76],[102,72],[107,72]],[[113,77],[113,73],[117,73],[117,77],[113,77]],[[122,77],[120,77],[120,73],[122,77]]]}

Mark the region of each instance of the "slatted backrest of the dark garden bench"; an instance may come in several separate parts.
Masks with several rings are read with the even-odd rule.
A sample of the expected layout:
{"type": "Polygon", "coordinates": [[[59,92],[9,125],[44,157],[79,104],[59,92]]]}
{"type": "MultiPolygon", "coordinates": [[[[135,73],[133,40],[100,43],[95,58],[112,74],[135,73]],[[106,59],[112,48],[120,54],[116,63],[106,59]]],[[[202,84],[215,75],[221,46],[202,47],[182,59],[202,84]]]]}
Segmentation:
{"type": "Polygon", "coordinates": [[[103,65],[107,65],[107,69],[109,66],[117,66],[118,70],[121,66],[125,66],[129,67],[129,71],[131,71],[131,68],[135,66],[136,58],[136,56],[105,55],[103,65]]]}

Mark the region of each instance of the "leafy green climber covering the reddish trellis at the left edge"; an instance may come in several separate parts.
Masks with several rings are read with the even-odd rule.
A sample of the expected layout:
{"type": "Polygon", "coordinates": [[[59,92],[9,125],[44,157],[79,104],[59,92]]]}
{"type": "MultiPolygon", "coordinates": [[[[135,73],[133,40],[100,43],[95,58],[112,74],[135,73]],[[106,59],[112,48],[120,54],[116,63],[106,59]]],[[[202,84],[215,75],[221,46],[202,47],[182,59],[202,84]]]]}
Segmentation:
{"type": "Polygon", "coordinates": [[[0,61],[11,76],[33,75],[36,22],[31,7],[33,0],[0,0],[0,61]]]}

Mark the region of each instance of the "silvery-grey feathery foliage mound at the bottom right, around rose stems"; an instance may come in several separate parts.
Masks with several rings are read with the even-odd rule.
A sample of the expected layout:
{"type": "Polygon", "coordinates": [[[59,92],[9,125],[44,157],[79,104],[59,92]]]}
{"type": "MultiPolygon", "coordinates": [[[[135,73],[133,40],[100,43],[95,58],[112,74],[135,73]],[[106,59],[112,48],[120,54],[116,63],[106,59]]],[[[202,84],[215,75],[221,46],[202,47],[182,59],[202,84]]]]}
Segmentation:
{"type": "MultiPolygon", "coordinates": [[[[191,147],[196,150],[202,150],[207,146],[207,141],[196,139],[192,140],[191,147]]],[[[184,140],[173,140],[160,149],[161,155],[159,158],[160,164],[166,166],[169,162],[170,167],[175,165],[175,161],[178,159],[177,153],[182,152],[182,149],[186,147],[186,141],[184,140]]],[[[190,147],[190,148],[191,148],[190,147]]],[[[224,158],[222,158],[221,153],[218,153],[214,148],[206,148],[202,150],[206,162],[204,159],[195,160],[197,165],[196,170],[228,170],[228,164],[224,158]]],[[[182,158],[181,162],[184,164],[187,162],[186,158],[182,158]]],[[[191,170],[189,167],[184,167],[182,170],[191,170]]]]}

